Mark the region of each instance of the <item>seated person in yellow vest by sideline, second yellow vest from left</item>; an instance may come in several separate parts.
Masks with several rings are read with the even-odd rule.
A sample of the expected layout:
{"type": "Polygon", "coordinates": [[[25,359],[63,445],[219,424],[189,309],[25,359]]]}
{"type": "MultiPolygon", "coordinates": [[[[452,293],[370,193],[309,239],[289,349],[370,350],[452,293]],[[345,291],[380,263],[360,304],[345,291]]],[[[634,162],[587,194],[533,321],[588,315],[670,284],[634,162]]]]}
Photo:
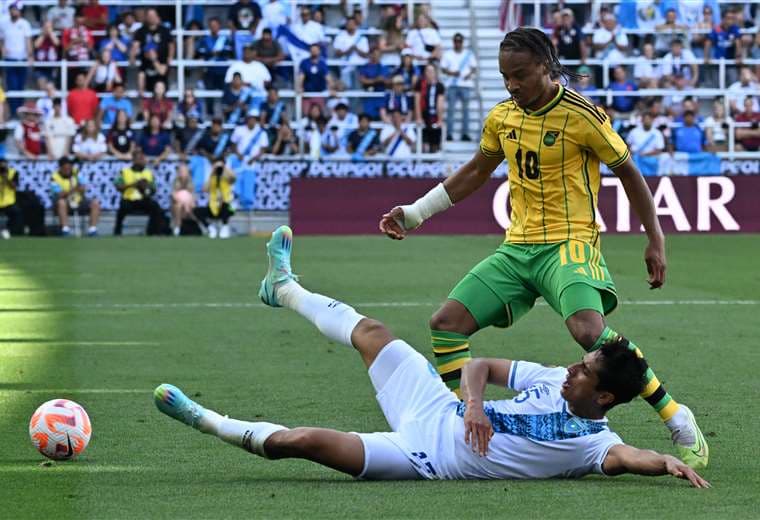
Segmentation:
{"type": "Polygon", "coordinates": [[[85,197],[86,186],[79,180],[79,169],[71,159],[64,156],[58,161],[58,169],[50,179],[50,191],[53,195],[53,207],[61,225],[61,235],[71,235],[69,215],[89,217],[87,236],[98,234],[98,219],[100,218],[100,202],[98,199],[85,197]]]}

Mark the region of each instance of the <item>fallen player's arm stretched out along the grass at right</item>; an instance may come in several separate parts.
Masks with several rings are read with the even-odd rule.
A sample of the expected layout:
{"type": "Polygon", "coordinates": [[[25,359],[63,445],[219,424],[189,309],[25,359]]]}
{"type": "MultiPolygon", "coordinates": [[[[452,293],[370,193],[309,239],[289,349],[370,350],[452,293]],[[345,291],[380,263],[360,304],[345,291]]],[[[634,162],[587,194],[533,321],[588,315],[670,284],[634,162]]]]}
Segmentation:
{"type": "Polygon", "coordinates": [[[688,480],[696,488],[709,488],[710,483],[699,476],[689,466],[670,455],[662,455],[652,450],[640,450],[626,444],[610,448],[602,463],[604,473],[610,476],[635,473],[656,477],[673,475],[688,480]]]}

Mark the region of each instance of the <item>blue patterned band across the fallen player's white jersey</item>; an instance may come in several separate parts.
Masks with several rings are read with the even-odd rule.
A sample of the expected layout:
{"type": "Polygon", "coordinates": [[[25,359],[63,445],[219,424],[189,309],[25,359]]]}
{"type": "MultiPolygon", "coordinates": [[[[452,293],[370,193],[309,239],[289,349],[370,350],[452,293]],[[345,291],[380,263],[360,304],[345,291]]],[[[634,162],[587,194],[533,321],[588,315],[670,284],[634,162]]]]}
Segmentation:
{"type": "MultiPolygon", "coordinates": [[[[465,409],[464,402],[460,402],[457,415],[464,417],[465,409]]],[[[576,417],[565,406],[561,412],[539,415],[500,413],[491,406],[485,406],[484,411],[495,433],[527,437],[534,441],[563,441],[607,430],[606,422],[576,417]]]]}

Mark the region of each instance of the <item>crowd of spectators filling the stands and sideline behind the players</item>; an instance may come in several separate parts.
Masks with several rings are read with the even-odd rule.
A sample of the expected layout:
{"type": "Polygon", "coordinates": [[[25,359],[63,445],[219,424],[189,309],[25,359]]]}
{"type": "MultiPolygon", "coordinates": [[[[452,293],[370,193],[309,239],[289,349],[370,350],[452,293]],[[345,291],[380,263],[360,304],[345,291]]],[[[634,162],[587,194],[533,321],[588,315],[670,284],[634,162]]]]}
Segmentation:
{"type": "MultiPolygon", "coordinates": [[[[760,59],[760,4],[562,4],[546,10],[542,24],[560,57],[576,60],[572,86],[605,107],[634,154],[725,151],[732,139],[735,150],[760,149],[760,65],[742,63],[760,59]],[[735,61],[718,67],[721,58],[735,61]],[[687,94],[726,80],[725,100],[687,94]],[[615,95],[651,88],[666,94],[615,95]],[[732,134],[734,122],[746,124],[732,134]]],[[[240,170],[255,171],[264,155],[404,159],[437,153],[446,139],[472,140],[479,64],[464,35],[444,41],[429,4],[414,4],[412,12],[406,3],[363,6],[194,4],[184,8],[178,40],[174,6],[2,1],[2,155],[15,149],[18,157],[59,161],[51,179],[103,159],[150,171],[177,157],[193,178],[203,164],[205,189],[218,197],[196,220],[219,217],[224,228],[240,170]],[[212,164],[226,173],[210,186],[212,164]]],[[[149,199],[153,181],[133,189],[124,171],[123,211],[152,215],[152,232],[168,229],[160,208],[128,203],[149,199]]],[[[14,221],[8,193],[17,184],[0,169],[0,214],[14,221]]],[[[183,216],[195,216],[196,194],[184,191],[173,198],[175,233],[183,216]]],[[[67,200],[73,193],[60,186],[53,192],[67,200]]],[[[86,206],[91,232],[93,202],[86,206]]]]}

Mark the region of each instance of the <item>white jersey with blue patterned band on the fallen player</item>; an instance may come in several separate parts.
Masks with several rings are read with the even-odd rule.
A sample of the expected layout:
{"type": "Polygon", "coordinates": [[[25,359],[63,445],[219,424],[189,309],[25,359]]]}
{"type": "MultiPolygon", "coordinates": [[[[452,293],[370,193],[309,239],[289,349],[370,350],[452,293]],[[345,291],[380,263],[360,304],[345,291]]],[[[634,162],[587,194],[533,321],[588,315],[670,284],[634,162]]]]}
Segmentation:
{"type": "MultiPolygon", "coordinates": [[[[602,463],[622,439],[607,419],[573,415],[560,395],[567,377],[564,367],[547,368],[513,361],[508,388],[512,399],[487,401],[486,415],[494,436],[485,457],[464,442],[464,403],[450,407],[438,424],[419,428],[419,436],[404,439],[413,455],[429,450],[418,471],[432,479],[536,479],[581,477],[603,473],[602,463]],[[427,432],[425,430],[428,430],[427,432]]],[[[417,461],[420,462],[419,460],[417,461]]]]}

